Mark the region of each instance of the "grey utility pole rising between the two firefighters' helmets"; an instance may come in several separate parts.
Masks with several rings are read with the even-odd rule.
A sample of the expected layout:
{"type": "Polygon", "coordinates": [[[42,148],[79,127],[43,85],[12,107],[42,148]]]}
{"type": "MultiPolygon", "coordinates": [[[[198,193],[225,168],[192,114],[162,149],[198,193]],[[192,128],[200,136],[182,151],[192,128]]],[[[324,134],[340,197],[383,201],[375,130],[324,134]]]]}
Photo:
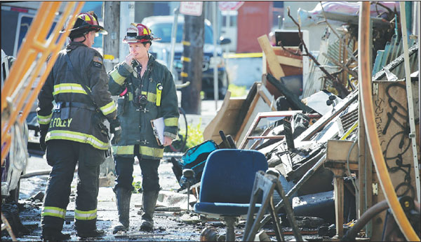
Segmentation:
{"type": "Polygon", "coordinates": [[[119,63],[120,47],[120,1],[104,1],[102,8],[104,16],[104,29],[108,34],[103,36],[104,66],[109,71],[119,63]]]}

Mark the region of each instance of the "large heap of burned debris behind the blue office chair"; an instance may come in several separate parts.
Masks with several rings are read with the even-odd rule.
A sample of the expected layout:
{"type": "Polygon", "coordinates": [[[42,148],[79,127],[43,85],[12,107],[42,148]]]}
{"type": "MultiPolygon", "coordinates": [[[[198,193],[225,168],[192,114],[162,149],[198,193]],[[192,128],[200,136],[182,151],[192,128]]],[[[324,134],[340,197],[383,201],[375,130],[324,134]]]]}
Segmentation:
{"type": "MultiPolygon", "coordinates": [[[[288,230],[286,227],[295,231],[298,225],[298,222],[290,220],[290,216],[307,216],[323,220],[317,227],[320,238],[335,236],[341,239],[361,214],[385,199],[378,186],[375,169],[371,167],[374,163],[370,159],[363,130],[359,99],[358,15],[326,11],[323,3],[321,7],[325,22],[339,21],[342,25],[335,29],[328,24],[318,55],[315,57],[307,50],[301,37],[298,48],[286,47],[283,43],[271,46],[267,36],[258,38],[265,63],[262,81],[254,83],[243,99],[230,99],[228,93],[220,111],[203,132],[206,140],[219,143],[222,138],[218,137],[218,133],[223,131],[233,137],[239,149],[262,152],[269,167],[267,173],[276,175],[285,192],[277,194],[272,190],[270,198],[264,193],[262,204],[272,201],[276,206],[272,207],[271,215],[279,216],[281,223],[271,220],[268,231],[265,224],[271,215],[267,214],[264,219],[258,217],[256,220],[261,221],[253,225],[253,238],[260,231],[260,235],[262,232],[272,233],[277,240],[283,240],[282,233],[288,230]],[[303,66],[304,58],[308,58],[307,67],[303,66]],[[363,162],[359,161],[361,157],[364,157],[363,162]],[[376,184],[377,187],[372,191],[366,183],[376,184]],[[291,204],[288,205],[286,200],[291,204]],[[286,206],[293,208],[293,214],[287,213],[286,206]],[[280,227],[283,232],[277,230],[280,227]]],[[[417,90],[418,40],[417,36],[410,36],[409,48],[405,50],[398,27],[400,13],[382,3],[376,4],[375,9],[376,15],[371,17],[375,26],[371,39],[373,59],[365,61],[373,63],[371,76],[377,134],[397,194],[413,201],[420,195],[420,185],[415,181],[419,159],[411,157],[419,156],[419,143],[418,154],[413,154],[413,150],[409,149],[409,122],[415,122],[419,130],[420,111],[419,108],[408,110],[405,81],[410,80],[406,80],[405,71],[414,76],[410,78],[415,80],[410,82],[410,87],[417,90]],[[409,59],[405,59],[405,52],[409,59]],[[403,64],[404,59],[408,62],[407,67],[403,64]],[[412,121],[410,115],[414,117],[412,121]],[[389,127],[392,123],[394,128],[389,127]],[[396,164],[392,164],[394,161],[396,164]],[[405,176],[399,177],[399,173],[405,176]]],[[[300,24],[295,20],[293,22],[302,34],[300,24]]],[[[418,103],[419,97],[412,93],[408,100],[418,103]]],[[[218,149],[215,145],[215,150],[218,149]]],[[[262,173],[261,176],[266,175],[262,173]]],[[[256,180],[256,184],[260,183],[256,180]]],[[[196,188],[200,188],[199,180],[196,180],[196,188]]],[[[413,213],[418,214],[415,217],[419,216],[419,209],[413,213]]],[[[413,218],[413,215],[407,214],[413,218]]],[[[387,220],[384,215],[378,216],[387,220]]],[[[247,224],[253,221],[250,216],[246,219],[247,224]]],[[[300,225],[301,232],[309,229],[305,223],[300,225]]],[[[248,237],[248,226],[244,228],[245,241],[253,240],[248,237]]],[[[382,239],[379,234],[382,227],[373,226],[378,231],[373,228],[359,236],[382,239]]],[[[419,233],[419,227],[415,229],[419,233]]],[[[203,230],[202,236],[217,238],[214,232],[208,228],[203,230]]],[[[294,235],[297,239],[298,235],[295,232],[294,235]]],[[[355,239],[356,234],[353,236],[355,239]]]]}

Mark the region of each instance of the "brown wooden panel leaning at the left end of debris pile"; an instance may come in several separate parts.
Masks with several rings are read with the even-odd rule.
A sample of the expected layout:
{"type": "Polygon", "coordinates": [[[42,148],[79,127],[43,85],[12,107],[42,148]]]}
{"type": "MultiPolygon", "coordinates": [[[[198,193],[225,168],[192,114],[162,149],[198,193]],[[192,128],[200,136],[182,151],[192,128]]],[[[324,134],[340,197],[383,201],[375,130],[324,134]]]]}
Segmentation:
{"type": "Polygon", "coordinates": [[[203,131],[203,139],[205,141],[213,140],[215,143],[221,143],[222,138],[219,134],[220,130],[224,131],[225,136],[236,135],[236,132],[238,131],[238,115],[245,99],[230,98],[230,96],[231,92],[228,91],[220,110],[203,131]]]}

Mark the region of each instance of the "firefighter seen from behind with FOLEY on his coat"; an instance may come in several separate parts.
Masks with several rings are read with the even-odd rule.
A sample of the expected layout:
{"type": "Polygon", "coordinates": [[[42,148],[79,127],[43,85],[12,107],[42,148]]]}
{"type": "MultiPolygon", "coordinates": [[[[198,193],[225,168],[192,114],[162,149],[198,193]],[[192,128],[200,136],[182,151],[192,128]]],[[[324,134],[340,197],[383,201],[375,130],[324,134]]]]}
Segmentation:
{"type": "Polygon", "coordinates": [[[77,236],[93,238],[104,234],[96,227],[100,164],[109,148],[108,130],[102,122],[109,120],[114,138],[119,138],[120,124],[116,104],[108,91],[102,56],[91,48],[98,32],[106,34],[95,13],[77,16],[70,29],[71,42],[59,52],[38,96],[40,145],[46,150],[48,164],[53,166],[41,213],[44,241],[70,238],[61,230],[77,162],[74,209],[77,236]]]}

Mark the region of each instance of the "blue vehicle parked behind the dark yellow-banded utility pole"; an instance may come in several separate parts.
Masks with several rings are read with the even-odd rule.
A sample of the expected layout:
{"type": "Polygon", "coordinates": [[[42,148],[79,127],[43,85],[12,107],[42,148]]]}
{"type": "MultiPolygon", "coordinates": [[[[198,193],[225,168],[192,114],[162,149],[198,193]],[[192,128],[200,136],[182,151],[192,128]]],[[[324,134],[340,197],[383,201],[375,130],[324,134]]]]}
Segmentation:
{"type": "MultiPolygon", "coordinates": [[[[171,51],[171,31],[173,28],[174,16],[153,16],[145,17],[142,20],[142,24],[145,24],[149,29],[152,30],[152,34],[156,37],[161,38],[161,41],[155,41],[149,50],[149,52],[156,57],[156,59],[168,66],[169,57],[171,51]]],[[[174,48],[174,61],[173,61],[173,73],[177,73],[174,76],[175,82],[181,80],[181,69],[182,62],[181,56],[183,51],[182,46],[182,34],[184,32],[184,16],[178,16],[178,27],[177,36],[175,38],[174,48]]],[[[228,90],[229,80],[227,76],[227,70],[225,69],[225,61],[222,57],[222,48],[220,45],[231,43],[229,38],[222,38],[218,41],[218,45],[213,45],[213,29],[209,20],[205,20],[205,35],[203,44],[203,73],[202,73],[202,91],[205,94],[206,99],[213,99],[213,68],[210,66],[210,58],[213,57],[213,50],[217,50],[218,54],[218,93],[219,98],[223,99],[228,90]]]]}

